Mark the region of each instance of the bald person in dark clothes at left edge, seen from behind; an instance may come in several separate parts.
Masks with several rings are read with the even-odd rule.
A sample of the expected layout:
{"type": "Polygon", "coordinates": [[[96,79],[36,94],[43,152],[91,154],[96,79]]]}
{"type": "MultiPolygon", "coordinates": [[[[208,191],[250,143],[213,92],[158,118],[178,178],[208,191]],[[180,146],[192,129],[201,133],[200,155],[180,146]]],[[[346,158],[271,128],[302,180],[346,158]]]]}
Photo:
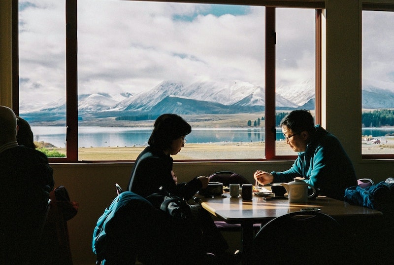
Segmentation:
{"type": "Polygon", "coordinates": [[[29,264],[43,227],[53,170],[45,154],[16,140],[14,112],[0,106],[0,264],[29,264]]]}

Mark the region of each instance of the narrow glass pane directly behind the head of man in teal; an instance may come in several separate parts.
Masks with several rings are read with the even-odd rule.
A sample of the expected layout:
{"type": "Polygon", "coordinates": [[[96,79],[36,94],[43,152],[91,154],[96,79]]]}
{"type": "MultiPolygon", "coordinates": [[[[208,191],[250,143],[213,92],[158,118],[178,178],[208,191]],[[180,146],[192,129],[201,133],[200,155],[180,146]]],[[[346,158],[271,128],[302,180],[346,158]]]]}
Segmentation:
{"type": "Polygon", "coordinates": [[[315,111],[315,10],[276,8],[276,155],[296,155],[280,122],[295,109],[315,111]]]}

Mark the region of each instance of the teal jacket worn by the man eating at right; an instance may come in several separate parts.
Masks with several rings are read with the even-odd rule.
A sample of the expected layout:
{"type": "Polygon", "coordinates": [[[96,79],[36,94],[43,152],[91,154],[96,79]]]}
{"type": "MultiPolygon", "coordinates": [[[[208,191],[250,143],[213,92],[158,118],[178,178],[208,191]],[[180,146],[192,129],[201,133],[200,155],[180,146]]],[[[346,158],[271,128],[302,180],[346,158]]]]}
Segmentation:
{"type": "Polygon", "coordinates": [[[344,200],[345,189],[357,185],[352,161],[339,140],[320,125],[306,146],[298,152],[293,166],[283,172],[271,172],[274,182],[290,182],[304,177],[305,182],[320,189],[319,194],[344,200]]]}

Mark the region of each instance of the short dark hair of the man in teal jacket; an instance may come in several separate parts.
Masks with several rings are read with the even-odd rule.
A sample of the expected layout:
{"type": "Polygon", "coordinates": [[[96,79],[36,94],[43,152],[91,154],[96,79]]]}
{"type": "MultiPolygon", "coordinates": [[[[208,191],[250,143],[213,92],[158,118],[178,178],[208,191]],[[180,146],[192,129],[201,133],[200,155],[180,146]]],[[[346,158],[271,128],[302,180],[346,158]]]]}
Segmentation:
{"type": "Polygon", "coordinates": [[[280,126],[285,125],[294,133],[302,131],[313,132],[315,123],[312,114],[307,110],[296,110],[288,114],[281,122],[280,126]]]}

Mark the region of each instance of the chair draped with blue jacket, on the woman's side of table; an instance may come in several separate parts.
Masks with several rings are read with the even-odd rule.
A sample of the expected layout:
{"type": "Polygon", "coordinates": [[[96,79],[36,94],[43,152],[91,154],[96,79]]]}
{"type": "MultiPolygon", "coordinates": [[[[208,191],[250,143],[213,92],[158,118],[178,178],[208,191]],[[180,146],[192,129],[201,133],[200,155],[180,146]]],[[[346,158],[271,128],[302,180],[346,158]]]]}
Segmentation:
{"type": "Polygon", "coordinates": [[[97,264],[133,265],[138,260],[144,265],[199,265],[199,258],[215,258],[203,252],[199,233],[140,195],[124,191],[99,217],[92,247],[97,264]]]}

